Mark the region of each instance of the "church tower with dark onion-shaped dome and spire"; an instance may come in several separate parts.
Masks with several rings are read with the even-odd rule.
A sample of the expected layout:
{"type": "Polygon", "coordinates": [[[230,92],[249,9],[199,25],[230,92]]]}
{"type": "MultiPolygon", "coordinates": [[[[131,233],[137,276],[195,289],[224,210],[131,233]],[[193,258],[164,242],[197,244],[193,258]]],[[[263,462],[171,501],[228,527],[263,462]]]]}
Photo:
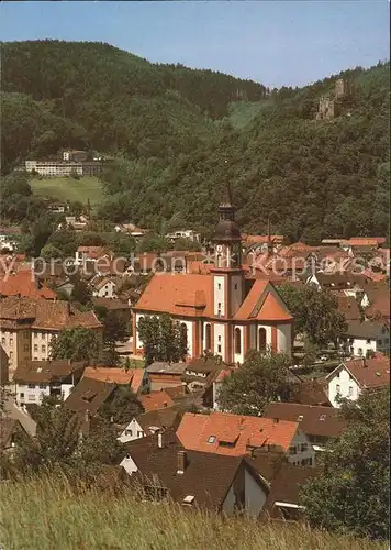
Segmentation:
{"type": "Polygon", "coordinates": [[[244,271],[242,268],[242,237],[235,221],[235,208],[231,193],[219,206],[219,223],[214,244],[213,316],[231,319],[244,300],[244,271]]]}

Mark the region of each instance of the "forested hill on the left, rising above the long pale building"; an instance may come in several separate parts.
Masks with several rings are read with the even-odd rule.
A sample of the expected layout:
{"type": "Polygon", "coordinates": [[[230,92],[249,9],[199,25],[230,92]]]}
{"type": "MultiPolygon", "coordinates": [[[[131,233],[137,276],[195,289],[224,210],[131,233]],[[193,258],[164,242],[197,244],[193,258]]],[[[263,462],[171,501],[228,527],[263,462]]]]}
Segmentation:
{"type": "Polygon", "coordinates": [[[11,42],[1,44],[1,57],[3,124],[13,130],[5,165],[67,144],[171,157],[192,151],[231,101],[266,94],[254,81],[152,64],[102,43],[11,42]]]}

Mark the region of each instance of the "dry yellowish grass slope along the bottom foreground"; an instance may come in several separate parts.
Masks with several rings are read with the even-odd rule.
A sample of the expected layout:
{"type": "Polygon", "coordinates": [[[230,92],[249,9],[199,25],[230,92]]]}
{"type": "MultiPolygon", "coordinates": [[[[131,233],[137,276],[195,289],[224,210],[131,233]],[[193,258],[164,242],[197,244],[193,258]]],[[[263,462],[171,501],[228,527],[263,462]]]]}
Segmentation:
{"type": "Polygon", "coordinates": [[[131,495],[77,494],[63,477],[0,483],[4,550],[372,550],[386,544],[292,524],[223,519],[131,495]]]}

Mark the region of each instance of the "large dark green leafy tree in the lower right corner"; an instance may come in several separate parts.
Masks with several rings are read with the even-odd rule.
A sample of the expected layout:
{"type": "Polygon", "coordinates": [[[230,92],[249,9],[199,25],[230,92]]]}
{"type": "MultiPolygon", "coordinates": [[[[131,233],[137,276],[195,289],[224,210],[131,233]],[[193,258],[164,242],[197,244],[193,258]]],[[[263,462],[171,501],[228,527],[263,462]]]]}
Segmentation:
{"type": "Polygon", "coordinates": [[[327,444],[323,474],[302,487],[312,526],[389,538],[389,402],[390,389],[384,388],[343,404],[347,429],[327,444]]]}

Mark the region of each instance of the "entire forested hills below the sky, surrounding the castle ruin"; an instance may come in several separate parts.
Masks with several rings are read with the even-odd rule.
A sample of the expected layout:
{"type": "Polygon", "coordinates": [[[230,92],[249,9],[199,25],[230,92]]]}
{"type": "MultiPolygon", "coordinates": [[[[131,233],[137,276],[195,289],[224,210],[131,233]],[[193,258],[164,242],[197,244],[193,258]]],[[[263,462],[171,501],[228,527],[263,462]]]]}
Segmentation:
{"type": "Polygon", "coordinates": [[[102,217],[210,228],[231,182],[242,226],[292,240],[388,233],[389,63],[301,89],[154,65],[100,43],[2,44],[2,161],[119,157],[102,217]],[[315,120],[343,77],[338,116],[315,120]]]}

